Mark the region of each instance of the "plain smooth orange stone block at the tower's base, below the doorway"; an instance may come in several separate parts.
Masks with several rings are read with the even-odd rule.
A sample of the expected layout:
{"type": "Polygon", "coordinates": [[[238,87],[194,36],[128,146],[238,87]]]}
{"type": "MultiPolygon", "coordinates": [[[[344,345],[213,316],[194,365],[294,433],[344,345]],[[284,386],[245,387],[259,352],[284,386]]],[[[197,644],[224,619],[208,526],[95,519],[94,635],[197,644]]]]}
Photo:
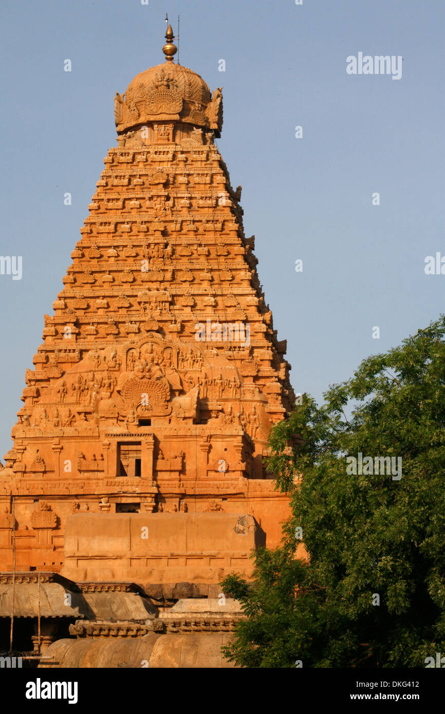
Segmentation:
{"type": "Polygon", "coordinates": [[[236,513],[77,513],[66,519],[63,575],[76,582],[219,583],[251,576],[265,535],[236,513]]]}

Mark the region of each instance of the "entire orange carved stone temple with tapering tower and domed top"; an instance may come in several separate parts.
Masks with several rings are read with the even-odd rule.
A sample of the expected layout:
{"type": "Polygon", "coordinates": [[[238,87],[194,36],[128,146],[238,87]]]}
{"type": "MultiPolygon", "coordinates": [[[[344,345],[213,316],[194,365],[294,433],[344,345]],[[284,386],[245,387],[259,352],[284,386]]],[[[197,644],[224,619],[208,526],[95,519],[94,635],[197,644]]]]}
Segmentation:
{"type": "Polygon", "coordinates": [[[289,515],[264,466],[286,341],[214,141],[221,89],[173,39],[116,92],[0,470],[0,649],[39,667],[230,666],[219,583],[289,515]]]}

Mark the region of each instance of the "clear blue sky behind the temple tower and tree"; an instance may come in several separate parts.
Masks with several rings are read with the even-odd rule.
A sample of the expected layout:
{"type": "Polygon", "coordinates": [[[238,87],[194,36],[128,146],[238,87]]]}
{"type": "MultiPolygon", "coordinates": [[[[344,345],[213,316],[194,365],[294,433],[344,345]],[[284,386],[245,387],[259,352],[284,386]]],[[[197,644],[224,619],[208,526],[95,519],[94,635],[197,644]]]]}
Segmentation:
{"type": "Polygon", "coordinates": [[[0,255],[23,277],[0,276],[0,456],[116,146],[114,93],[163,61],[166,11],[181,64],[223,87],[218,145],[295,390],[321,401],[444,311],[445,275],[424,273],[445,256],[443,1],[3,0],[0,255]],[[346,74],[359,52],[401,55],[401,80],[346,74]]]}

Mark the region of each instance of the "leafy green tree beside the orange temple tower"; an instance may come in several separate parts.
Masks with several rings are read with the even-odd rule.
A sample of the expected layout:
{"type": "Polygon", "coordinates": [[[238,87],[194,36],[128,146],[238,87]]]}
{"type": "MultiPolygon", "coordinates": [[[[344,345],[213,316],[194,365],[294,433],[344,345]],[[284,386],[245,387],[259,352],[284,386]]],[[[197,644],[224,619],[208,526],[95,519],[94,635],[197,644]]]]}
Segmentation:
{"type": "Polygon", "coordinates": [[[252,583],[221,583],[246,615],[224,648],[237,665],[424,667],[445,655],[444,335],[441,316],[271,432],[292,516],[280,548],[253,554],[252,583]],[[367,460],[349,473],[359,453],[372,471],[367,460]],[[381,457],[401,458],[401,478],[381,457]]]}

